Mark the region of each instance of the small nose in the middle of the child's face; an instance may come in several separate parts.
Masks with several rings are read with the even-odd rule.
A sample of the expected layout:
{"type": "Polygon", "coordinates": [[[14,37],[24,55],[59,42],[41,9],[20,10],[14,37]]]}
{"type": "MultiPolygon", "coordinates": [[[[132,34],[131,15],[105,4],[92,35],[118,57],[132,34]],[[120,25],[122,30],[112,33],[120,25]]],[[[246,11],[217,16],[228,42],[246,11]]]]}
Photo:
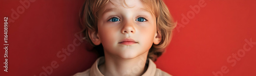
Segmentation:
{"type": "Polygon", "coordinates": [[[135,33],[134,23],[133,22],[124,23],[121,32],[123,34],[124,33],[135,33]]]}

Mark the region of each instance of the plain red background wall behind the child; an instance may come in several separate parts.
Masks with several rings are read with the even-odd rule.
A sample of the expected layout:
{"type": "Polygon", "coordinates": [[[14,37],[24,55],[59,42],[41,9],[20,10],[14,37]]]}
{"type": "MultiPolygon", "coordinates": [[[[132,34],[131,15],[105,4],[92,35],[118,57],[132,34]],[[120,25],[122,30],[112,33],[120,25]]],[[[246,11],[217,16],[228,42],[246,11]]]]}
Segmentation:
{"type": "MultiPolygon", "coordinates": [[[[20,0],[26,1],[26,0],[20,0]]],[[[75,50],[58,58],[62,48],[67,49],[79,27],[78,13],[83,4],[78,1],[35,1],[14,20],[11,9],[24,8],[17,1],[0,1],[1,33],[4,33],[4,17],[8,16],[8,72],[4,71],[4,37],[1,37],[0,75],[39,75],[42,67],[59,65],[50,75],[73,75],[91,67],[97,59],[93,52],[86,51],[86,43],[75,46],[75,50]],[[14,20],[13,21],[11,21],[14,20]]],[[[157,67],[172,75],[214,75],[226,66],[223,75],[256,75],[256,45],[250,47],[245,40],[256,42],[256,1],[205,0],[187,24],[182,23],[182,14],[193,16],[193,9],[200,0],[165,0],[170,13],[179,23],[174,30],[172,42],[166,52],[155,62],[157,67]],[[183,27],[181,27],[182,25],[183,27]],[[250,51],[239,52],[243,46],[250,51]],[[228,62],[229,56],[243,54],[228,62]]],[[[28,5],[26,3],[26,5],[28,5]]],[[[22,11],[22,9],[19,9],[22,11]]],[[[2,34],[3,35],[3,34],[2,34]]],[[[79,35],[79,34],[78,34],[79,35]]],[[[80,43],[78,40],[76,43],[80,43]]],[[[63,54],[63,53],[60,53],[63,54]]],[[[220,75],[220,74],[219,74],[220,75]]]]}

